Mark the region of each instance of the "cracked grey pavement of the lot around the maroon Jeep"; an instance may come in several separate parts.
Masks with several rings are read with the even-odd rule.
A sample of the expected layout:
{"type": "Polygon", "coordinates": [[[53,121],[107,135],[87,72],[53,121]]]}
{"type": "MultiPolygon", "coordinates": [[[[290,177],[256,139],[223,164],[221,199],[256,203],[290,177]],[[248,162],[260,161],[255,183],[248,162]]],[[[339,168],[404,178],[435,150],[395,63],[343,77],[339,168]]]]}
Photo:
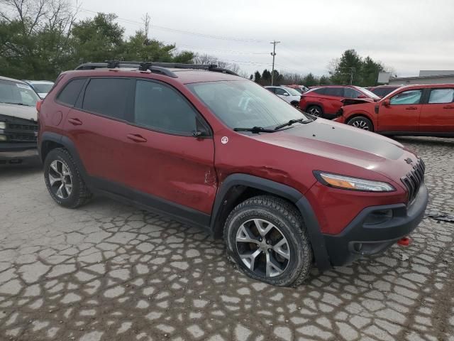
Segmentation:
{"type": "MultiPolygon", "coordinates": [[[[399,139],[426,161],[427,212],[454,215],[454,139],[399,139]]],[[[95,198],[51,200],[38,168],[0,170],[0,340],[454,340],[454,223],[276,288],[223,242],[95,198]]]]}

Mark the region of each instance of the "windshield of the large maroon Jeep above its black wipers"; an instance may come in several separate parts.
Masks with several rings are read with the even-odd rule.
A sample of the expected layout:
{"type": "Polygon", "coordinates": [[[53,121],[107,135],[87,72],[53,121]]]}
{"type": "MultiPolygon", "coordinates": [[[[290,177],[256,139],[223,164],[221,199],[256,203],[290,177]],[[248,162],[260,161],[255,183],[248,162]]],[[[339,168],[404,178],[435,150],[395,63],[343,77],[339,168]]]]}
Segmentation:
{"type": "Polygon", "coordinates": [[[230,128],[268,128],[291,119],[308,118],[272,92],[249,80],[192,83],[187,87],[230,128]]]}

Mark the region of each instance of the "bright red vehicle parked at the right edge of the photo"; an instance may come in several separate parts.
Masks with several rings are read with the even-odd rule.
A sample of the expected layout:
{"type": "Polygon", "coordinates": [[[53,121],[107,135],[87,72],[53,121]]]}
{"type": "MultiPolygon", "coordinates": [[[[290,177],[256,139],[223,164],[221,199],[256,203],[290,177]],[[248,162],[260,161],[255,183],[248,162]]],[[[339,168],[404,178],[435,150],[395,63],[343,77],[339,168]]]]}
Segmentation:
{"type": "Polygon", "coordinates": [[[454,84],[407,85],[377,103],[345,106],[335,120],[384,135],[454,137],[454,84]]]}

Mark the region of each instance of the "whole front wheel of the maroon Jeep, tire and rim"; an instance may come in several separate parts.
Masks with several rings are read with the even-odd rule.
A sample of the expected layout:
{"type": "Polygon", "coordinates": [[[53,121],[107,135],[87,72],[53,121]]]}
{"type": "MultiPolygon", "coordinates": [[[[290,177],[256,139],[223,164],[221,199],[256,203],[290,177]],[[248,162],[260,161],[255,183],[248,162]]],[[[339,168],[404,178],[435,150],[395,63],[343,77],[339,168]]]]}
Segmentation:
{"type": "Polygon", "coordinates": [[[272,196],[240,203],[224,226],[228,256],[243,273],[274,286],[298,286],[309,276],[312,249],[294,205],[272,196]]]}

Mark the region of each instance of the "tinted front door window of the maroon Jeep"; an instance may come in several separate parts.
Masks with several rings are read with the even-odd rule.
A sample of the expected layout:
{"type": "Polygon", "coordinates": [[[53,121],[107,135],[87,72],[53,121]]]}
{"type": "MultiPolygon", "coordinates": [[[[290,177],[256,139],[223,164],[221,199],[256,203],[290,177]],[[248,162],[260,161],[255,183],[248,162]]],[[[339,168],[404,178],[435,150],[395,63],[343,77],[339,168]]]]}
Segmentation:
{"type": "Polygon", "coordinates": [[[135,86],[134,120],[140,126],[175,133],[196,131],[196,112],[171,87],[138,80],[135,86]]]}

